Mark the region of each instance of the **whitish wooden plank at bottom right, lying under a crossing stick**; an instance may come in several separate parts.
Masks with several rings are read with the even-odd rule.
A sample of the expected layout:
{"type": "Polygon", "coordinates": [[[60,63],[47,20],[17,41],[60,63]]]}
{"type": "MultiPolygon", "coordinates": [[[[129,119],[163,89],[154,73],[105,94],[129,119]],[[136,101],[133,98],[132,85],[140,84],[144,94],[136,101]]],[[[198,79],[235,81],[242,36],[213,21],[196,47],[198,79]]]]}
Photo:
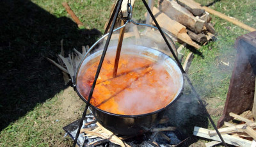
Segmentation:
{"type": "MultiPolygon", "coordinates": [[[[208,132],[209,132],[209,130],[206,129],[206,128],[195,127],[193,134],[198,136],[198,137],[204,137],[204,138],[207,138],[207,139],[212,139],[214,141],[220,141],[221,142],[221,139],[218,135],[210,136],[208,134],[208,132]]],[[[240,137],[235,137],[235,136],[227,135],[227,134],[224,134],[224,135],[221,135],[221,136],[223,137],[225,143],[232,144],[234,146],[250,147],[251,144],[252,144],[252,141],[248,141],[248,140],[242,139],[240,137]]]]}

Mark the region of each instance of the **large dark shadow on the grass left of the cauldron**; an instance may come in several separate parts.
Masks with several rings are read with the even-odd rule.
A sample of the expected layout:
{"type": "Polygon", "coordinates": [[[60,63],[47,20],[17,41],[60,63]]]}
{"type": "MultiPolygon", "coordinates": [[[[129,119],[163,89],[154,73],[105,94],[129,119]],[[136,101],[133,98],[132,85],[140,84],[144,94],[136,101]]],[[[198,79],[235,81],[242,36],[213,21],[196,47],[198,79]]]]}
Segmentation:
{"type": "Polygon", "coordinates": [[[92,45],[100,32],[79,30],[28,0],[1,1],[0,13],[1,131],[65,88],[60,70],[45,59],[56,59],[61,39],[68,53],[92,45]]]}

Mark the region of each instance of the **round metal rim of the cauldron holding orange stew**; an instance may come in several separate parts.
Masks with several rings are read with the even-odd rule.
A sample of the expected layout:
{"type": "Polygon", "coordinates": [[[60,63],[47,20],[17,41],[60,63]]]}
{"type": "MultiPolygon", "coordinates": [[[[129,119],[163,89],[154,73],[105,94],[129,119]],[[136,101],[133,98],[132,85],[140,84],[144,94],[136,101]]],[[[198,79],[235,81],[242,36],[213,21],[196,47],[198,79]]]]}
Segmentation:
{"type": "MultiPolygon", "coordinates": [[[[147,48],[147,49],[150,49],[150,50],[156,50],[156,49],[152,49],[150,47],[145,47],[145,46],[141,46],[141,45],[127,45],[126,47],[132,47],[132,46],[136,46],[136,47],[141,47],[141,48],[147,48]]],[[[109,48],[112,48],[112,47],[109,47],[109,48]]],[[[160,50],[156,50],[157,52],[161,52],[160,50]]],[[[102,50],[98,50],[97,52],[102,52],[102,50]]],[[[94,52],[93,54],[97,53],[97,52],[94,52]]],[[[92,56],[93,54],[91,54],[90,56],[92,56]]],[[[161,52],[161,54],[164,54],[164,52],[161,52]]],[[[165,56],[168,56],[166,54],[164,54],[165,56]]],[[[170,56],[168,56],[168,58],[172,59],[170,56]]],[[[84,61],[84,60],[83,60],[84,61]]],[[[83,63],[83,61],[81,61],[81,63],[83,63]]],[[[175,64],[177,65],[176,61],[174,59],[172,59],[172,61],[175,62],[175,64]]],[[[82,65],[82,64],[81,64],[82,65]]],[[[177,65],[178,66],[178,65],[177,65]]],[[[79,67],[80,68],[80,67],[79,67]]],[[[77,82],[77,75],[78,75],[78,70],[79,68],[77,68],[77,74],[76,74],[76,77],[75,77],[75,81],[77,82]]],[[[179,68],[179,66],[178,66],[179,68]]],[[[180,68],[179,68],[180,70],[180,68]]],[[[115,113],[111,113],[111,112],[108,112],[108,111],[104,111],[102,109],[99,109],[97,107],[95,107],[94,105],[92,104],[89,104],[90,107],[92,107],[93,109],[96,109],[97,111],[100,111],[100,112],[104,112],[105,114],[109,114],[111,116],[117,116],[117,117],[122,117],[122,118],[138,118],[138,117],[144,117],[144,116],[149,116],[149,115],[152,115],[152,114],[156,114],[158,112],[161,112],[161,111],[164,111],[164,109],[167,109],[168,107],[170,107],[179,97],[180,95],[182,94],[182,91],[184,89],[184,75],[182,74],[182,72],[180,71],[181,75],[182,75],[182,88],[180,88],[180,91],[179,92],[179,95],[177,95],[177,97],[173,98],[173,100],[168,104],[166,105],[165,107],[161,108],[161,109],[158,109],[157,111],[153,111],[153,112],[148,112],[148,113],[145,113],[145,114],[137,114],[137,115],[124,115],[124,114],[115,114],[115,113]]],[[[77,89],[76,87],[76,92],[77,92],[77,95],[81,98],[81,100],[83,100],[83,102],[85,102],[86,104],[88,104],[88,101],[86,100],[86,98],[83,97],[83,95],[81,95],[81,93],[79,92],[79,90],[77,89]]]]}

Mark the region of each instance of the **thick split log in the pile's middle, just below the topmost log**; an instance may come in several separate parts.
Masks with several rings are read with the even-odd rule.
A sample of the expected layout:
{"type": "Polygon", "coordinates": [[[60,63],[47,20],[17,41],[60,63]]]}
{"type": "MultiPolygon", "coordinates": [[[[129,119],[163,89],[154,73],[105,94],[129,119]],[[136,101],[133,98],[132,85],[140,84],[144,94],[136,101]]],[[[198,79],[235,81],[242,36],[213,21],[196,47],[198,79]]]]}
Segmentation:
{"type": "Polygon", "coordinates": [[[188,27],[195,33],[200,33],[204,27],[205,21],[197,19],[186,8],[180,6],[175,1],[161,0],[159,1],[159,10],[164,12],[168,17],[176,20],[180,24],[188,27]]]}

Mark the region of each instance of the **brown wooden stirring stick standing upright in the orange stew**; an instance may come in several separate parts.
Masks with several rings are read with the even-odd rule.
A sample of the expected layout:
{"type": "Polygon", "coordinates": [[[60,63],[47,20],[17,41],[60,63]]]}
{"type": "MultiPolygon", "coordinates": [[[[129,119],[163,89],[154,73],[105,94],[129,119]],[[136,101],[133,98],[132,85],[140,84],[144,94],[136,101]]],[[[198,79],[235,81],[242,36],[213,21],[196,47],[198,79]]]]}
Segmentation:
{"type": "MultiPolygon", "coordinates": [[[[123,26],[124,23],[125,23],[125,20],[122,20],[121,26],[123,26]]],[[[118,44],[117,44],[117,49],[116,49],[115,66],[114,66],[114,71],[113,71],[114,78],[116,77],[116,73],[117,73],[118,62],[119,62],[123,38],[124,38],[124,31],[125,31],[125,27],[122,27],[122,29],[120,29],[120,34],[119,34],[118,44]]]]}

